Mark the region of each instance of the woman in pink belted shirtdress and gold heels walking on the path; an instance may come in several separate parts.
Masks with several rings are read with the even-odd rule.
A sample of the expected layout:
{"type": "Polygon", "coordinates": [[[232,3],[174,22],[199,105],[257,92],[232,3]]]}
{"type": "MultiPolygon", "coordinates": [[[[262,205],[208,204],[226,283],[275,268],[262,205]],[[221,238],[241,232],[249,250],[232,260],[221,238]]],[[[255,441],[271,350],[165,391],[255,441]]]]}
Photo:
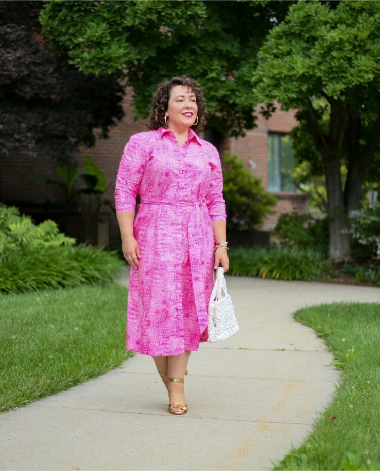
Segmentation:
{"type": "Polygon", "coordinates": [[[127,348],[153,357],[176,415],[187,412],[183,378],[190,353],[207,340],[213,267],[229,268],[220,159],[197,135],[205,109],[203,90],[191,78],[160,84],[150,131],[130,138],[115,186],[123,254],[131,265],[127,348]]]}

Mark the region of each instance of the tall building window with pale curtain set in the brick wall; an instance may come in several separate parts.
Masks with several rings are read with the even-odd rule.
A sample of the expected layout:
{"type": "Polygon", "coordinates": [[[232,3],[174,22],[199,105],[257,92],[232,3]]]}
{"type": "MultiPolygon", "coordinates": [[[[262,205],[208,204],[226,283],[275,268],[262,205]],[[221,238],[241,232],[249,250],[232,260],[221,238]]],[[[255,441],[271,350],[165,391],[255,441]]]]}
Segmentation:
{"type": "Polygon", "coordinates": [[[294,191],[293,142],[288,134],[268,134],[268,191],[294,191]]]}

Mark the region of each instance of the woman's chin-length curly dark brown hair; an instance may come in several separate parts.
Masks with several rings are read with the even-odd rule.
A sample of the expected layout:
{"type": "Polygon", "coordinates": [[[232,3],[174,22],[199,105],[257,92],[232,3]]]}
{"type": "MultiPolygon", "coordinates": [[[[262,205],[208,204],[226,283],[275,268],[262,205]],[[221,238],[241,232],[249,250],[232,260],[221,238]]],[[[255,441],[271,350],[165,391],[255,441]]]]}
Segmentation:
{"type": "Polygon", "coordinates": [[[168,102],[172,88],[177,85],[188,87],[195,95],[198,106],[198,123],[192,126],[192,129],[198,134],[202,131],[205,124],[206,104],[203,89],[196,80],[189,77],[174,77],[172,80],[162,82],[152,95],[151,111],[147,126],[149,129],[158,129],[166,127],[164,116],[168,110],[168,102]]]}

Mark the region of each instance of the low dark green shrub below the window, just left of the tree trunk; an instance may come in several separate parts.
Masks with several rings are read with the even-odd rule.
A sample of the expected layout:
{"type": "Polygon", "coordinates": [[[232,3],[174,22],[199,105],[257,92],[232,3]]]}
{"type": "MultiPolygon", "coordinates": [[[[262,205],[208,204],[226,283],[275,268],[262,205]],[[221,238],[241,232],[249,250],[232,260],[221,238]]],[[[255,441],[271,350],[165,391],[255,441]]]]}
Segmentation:
{"type": "Polygon", "coordinates": [[[327,250],[327,218],[315,219],[311,214],[285,213],[279,217],[273,234],[286,247],[318,247],[327,250]]]}

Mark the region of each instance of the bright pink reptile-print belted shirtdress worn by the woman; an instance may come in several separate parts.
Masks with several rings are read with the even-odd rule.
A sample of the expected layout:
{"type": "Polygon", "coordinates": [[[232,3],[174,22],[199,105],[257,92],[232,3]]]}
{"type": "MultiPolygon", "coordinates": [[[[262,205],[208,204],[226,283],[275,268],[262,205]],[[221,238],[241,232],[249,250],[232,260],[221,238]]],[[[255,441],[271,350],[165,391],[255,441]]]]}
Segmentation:
{"type": "Polygon", "coordinates": [[[127,348],[178,355],[207,340],[213,287],[212,221],[225,220],[219,154],[193,130],[180,148],[160,128],[124,148],[115,186],[117,211],[134,211],[140,266],[131,268],[127,348]]]}

